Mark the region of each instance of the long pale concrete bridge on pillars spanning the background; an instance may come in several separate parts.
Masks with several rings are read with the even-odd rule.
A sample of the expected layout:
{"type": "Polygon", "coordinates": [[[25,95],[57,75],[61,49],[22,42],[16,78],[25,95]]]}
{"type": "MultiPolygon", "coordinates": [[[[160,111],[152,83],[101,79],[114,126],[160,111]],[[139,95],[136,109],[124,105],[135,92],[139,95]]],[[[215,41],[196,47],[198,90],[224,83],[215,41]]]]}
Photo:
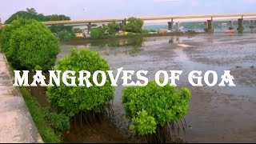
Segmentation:
{"type": "MultiPolygon", "coordinates": [[[[168,16],[154,16],[154,17],[138,17],[142,18],[145,23],[150,22],[167,22],[169,30],[173,29],[174,21],[176,26],[179,28],[179,22],[201,22],[204,21],[206,24],[205,30],[207,32],[214,31],[214,21],[220,20],[230,20],[230,29],[233,29],[233,20],[238,19],[238,31],[242,33],[243,19],[254,19],[256,18],[256,13],[252,14],[194,14],[194,15],[168,15],[168,16]]],[[[65,20],[65,21],[50,21],[42,22],[46,26],[52,25],[66,25],[66,26],[88,26],[92,23],[107,23],[107,22],[121,22],[126,25],[126,18],[107,18],[107,19],[85,19],[85,20],[65,20]]],[[[6,25],[3,25],[0,21],[0,29],[6,25]]]]}

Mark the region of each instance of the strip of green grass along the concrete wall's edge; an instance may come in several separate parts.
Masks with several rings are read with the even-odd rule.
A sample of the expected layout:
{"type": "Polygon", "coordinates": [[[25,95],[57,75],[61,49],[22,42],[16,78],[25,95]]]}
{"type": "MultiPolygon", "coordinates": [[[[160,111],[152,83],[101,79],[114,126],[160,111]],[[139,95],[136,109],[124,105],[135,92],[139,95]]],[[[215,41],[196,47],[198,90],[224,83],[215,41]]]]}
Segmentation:
{"type": "Polygon", "coordinates": [[[25,87],[20,87],[19,89],[26,102],[27,108],[30,110],[34,124],[37,127],[38,133],[41,135],[43,142],[62,142],[61,136],[55,134],[54,130],[49,125],[49,122],[46,121],[46,114],[48,113],[47,110],[39,105],[38,101],[27,92],[25,87]]]}

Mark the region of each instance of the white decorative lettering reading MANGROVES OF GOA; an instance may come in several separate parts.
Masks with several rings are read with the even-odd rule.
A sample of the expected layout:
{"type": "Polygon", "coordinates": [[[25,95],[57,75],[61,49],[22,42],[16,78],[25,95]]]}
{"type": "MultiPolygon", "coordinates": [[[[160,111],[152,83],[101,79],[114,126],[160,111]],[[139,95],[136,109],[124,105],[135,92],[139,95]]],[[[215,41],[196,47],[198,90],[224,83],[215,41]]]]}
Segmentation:
{"type": "MultiPolygon", "coordinates": [[[[60,86],[62,82],[66,86],[104,86],[109,77],[111,86],[118,86],[118,78],[122,79],[122,86],[146,86],[149,82],[147,78],[148,70],[123,70],[123,67],[117,69],[117,74],[113,74],[113,70],[97,70],[93,74],[87,70],[80,70],[78,72],[74,70],[48,70],[50,77],[49,82],[46,84],[46,77],[42,74],[42,70],[35,70],[33,76],[33,82],[29,84],[29,70],[14,70],[14,84],[13,86],[60,86]],[[121,76],[122,74],[122,76],[121,76]],[[132,76],[136,77],[136,81],[132,80],[132,76]],[[92,77],[92,78],[91,78],[92,77]]],[[[182,70],[158,70],[154,74],[154,80],[158,86],[177,86],[176,82],[179,81],[182,76],[182,70]],[[161,78],[160,78],[161,77],[161,78]]],[[[206,83],[206,86],[235,86],[234,77],[230,74],[230,70],[223,70],[221,79],[218,80],[218,74],[214,70],[207,70],[204,74],[202,71],[193,70],[187,76],[188,82],[191,86],[203,86],[202,81],[206,83]],[[212,80],[209,80],[209,78],[212,80]]]]}

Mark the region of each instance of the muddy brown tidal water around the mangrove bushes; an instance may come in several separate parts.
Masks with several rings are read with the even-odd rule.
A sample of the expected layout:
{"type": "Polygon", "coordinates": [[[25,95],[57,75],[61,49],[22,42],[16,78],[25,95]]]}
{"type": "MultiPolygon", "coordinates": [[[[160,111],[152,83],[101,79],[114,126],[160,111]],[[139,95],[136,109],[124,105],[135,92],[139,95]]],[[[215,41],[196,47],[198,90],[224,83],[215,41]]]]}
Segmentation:
{"type": "MultiPolygon", "coordinates": [[[[256,34],[144,38],[114,44],[80,42],[77,46],[62,45],[58,58],[68,55],[73,47],[98,51],[112,70],[148,70],[147,77],[152,80],[158,70],[183,70],[178,88],[187,86],[192,92],[186,115],[189,128],[182,134],[187,142],[256,141],[256,34]],[[209,87],[204,82],[202,87],[191,86],[187,80],[191,70],[202,70],[202,74],[215,70],[218,83],[223,70],[231,70],[236,86],[209,87]]],[[[114,98],[115,124],[129,134],[121,84],[119,78],[114,98]]]]}

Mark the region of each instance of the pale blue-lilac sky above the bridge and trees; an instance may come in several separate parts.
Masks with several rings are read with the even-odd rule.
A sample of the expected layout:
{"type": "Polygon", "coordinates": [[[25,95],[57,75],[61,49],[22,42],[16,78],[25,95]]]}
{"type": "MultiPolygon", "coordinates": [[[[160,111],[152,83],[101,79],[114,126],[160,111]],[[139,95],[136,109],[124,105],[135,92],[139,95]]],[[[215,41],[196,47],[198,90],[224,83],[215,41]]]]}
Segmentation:
{"type": "Polygon", "coordinates": [[[128,18],[168,14],[255,13],[256,0],[0,0],[0,18],[34,7],[40,14],[71,19],[128,18]]]}

